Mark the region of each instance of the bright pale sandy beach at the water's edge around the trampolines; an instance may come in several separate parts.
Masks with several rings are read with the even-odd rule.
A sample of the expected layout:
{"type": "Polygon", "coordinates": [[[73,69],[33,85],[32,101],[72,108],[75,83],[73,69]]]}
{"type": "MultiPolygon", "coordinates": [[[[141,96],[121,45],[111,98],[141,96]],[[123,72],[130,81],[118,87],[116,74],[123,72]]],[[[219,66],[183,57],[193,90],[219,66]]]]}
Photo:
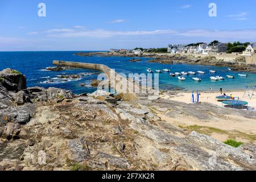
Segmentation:
{"type": "MultiPolygon", "coordinates": [[[[199,92],[200,93],[200,102],[209,102],[211,104],[215,104],[218,106],[223,106],[222,102],[219,102],[216,100],[216,96],[221,96],[220,92],[199,92]]],[[[240,91],[227,91],[224,92],[226,94],[226,96],[230,96],[231,94],[233,95],[233,97],[239,97],[240,100],[242,101],[247,101],[249,104],[249,106],[251,107],[256,107],[256,92],[254,93],[254,96],[250,99],[248,96],[248,93],[245,94],[245,90],[240,90],[240,91]],[[243,95],[245,94],[245,96],[243,97],[243,95]]],[[[253,93],[253,90],[250,90],[250,94],[253,93]]],[[[162,94],[161,95],[162,98],[165,99],[170,99],[173,101],[180,101],[180,102],[185,102],[187,104],[191,103],[192,100],[192,93],[191,92],[181,92],[178,93],[174,96],[168,96],[167,94],[162,94]]],[[[196,94],[195,94],[196,97],[196,94]]]]}

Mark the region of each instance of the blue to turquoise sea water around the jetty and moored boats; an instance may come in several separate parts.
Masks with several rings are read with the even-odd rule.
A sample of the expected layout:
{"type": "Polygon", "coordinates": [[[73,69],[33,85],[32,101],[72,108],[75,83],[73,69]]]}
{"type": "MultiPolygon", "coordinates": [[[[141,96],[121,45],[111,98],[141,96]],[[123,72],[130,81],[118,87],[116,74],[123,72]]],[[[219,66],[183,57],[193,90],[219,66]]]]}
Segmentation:
{"type": "Polygon", "coordinates": [[[0,69],[13,68],[22,72],[27,76],[28,86],[42,86],[44,88],[57,87],[68,90],[73,90],[74,93],[94,92],[96,89],[90,86],[90,79],[97,78],[97,75],[84,76],[81,80],[72,80],[68,82],[53,82],[47,83],[50,79],[57,78],[58,75],[71,75],[77,73],[93,73],[98,72],[89,69],[74,69],[61,72],[49,72],[44,71],[46,67],[52,67],[52,60],[63,61],[77,61],[84,63],[98,63],[105,64],[108,67],[115,69],[118,73],[147,73],[146,69],[151,68],[152,71],[156,69],[171,69],[172,73],[175,72],[197,72],[204,71],[206,74],[197,74],[196,77],[202,79],[201,82],[193,81],[194,76],[184,76],[186,81],[179,81],[176,77],[169,76],[169,73],[159,74],[159,88],[163,90],[181,88],[184,90],[201,90],[207,91],[209,88],[213,90],[240,90],[245,89],[246,85],[256,84],[256,74],[247,72],[228,72],[226,67],[212,67],[205,65],[189,65],[189,64],[158,64],[147,63],[149,58],[142,57],[141,62],[131,63],[129,60],[131,57],[81,57],[73,55],[75,51],[53,51],[53,52],[0,52],[0,69]],[[209,70],[217,71],[216,74],[209,73],[209,70]],[[240,77],[238,73],[247,74],[248,77],[240,77]],[[211,81],[210,76],[223,76],[223,81],[211,81]],[[235,79],[226,78],[226,75],[235,76],[235,79]],[[86,86],[80,86],[81,83],[85,83],[86,86]]]}

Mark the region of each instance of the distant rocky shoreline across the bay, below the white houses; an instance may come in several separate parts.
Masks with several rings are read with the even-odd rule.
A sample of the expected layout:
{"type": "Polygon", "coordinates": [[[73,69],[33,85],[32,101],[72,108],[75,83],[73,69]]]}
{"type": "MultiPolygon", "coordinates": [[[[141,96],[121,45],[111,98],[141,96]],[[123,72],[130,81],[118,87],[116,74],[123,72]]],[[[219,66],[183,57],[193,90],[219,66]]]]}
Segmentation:
{"type": "MultiPolygon", "coordinates": [[[[118,52],[79,52],[75,55],[78,56],[123,56],[123,57],[137,57],[133,53],[118,53],[118,52]]],[[[255,64],[247,64],[245,56],[240,56],[233,61],[218,60],[215,56],[203,56],[195,57],[193,55],[180,55],[171,53],[143,53],[139,57],[149,57],[152,60],[149,63],[161,63],[161,64],[201,64],[201,65],[213,65],[220,67],[230,67],[232,71],[248,71],[256,72],[255,64]]],[[[136,59],[134,59],[136,60],[136,59]]],[[[137,61],[131,61],[137,62],[137,61]]]]}

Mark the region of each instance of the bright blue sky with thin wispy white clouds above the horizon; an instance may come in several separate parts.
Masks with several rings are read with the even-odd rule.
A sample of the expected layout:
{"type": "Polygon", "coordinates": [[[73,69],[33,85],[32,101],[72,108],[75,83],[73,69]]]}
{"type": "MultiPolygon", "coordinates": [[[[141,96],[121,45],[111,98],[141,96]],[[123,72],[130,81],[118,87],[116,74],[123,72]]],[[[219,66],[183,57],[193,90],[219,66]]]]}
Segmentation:
{"type": "Polygon", "coordinates": [[[252,0],[1,0],[0,51],[108,50],[256,42],[252,0]],[[38,4],[46,4],[46,17],[38,4]],[[217,17],[208,15],[216,3],[217,17]]]}

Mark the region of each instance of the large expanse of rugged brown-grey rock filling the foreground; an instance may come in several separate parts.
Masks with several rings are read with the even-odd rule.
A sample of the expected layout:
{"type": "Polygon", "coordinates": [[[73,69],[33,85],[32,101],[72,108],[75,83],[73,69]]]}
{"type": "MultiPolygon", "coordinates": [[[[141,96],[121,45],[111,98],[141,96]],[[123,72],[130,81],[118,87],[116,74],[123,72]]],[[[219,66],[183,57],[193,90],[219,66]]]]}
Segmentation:
{"type": "Polygon", "coordinates": [[[123,102],[104,92],[75,96],[26,88],[25,76],[5,69],[0,170],[256,170],[255,144],[234,148],[188,133],[150,109],[163,104],[123,102]]]}

